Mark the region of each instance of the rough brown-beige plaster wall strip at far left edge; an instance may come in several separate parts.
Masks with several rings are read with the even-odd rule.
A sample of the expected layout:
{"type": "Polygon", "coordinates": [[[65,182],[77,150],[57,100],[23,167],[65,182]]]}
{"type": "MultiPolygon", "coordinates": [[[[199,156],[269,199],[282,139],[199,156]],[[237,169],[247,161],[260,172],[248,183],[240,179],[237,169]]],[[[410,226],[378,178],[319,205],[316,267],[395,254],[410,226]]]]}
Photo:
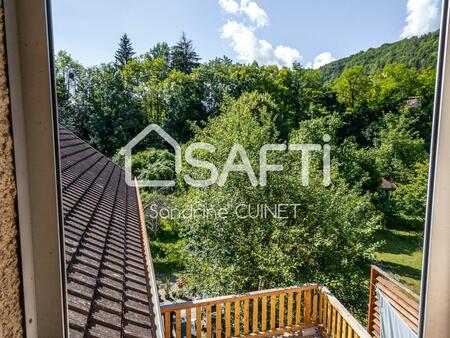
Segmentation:
{"type": "Polygon", "coordinates": [[[21,337],[22,305],[13,144],[0,0],[0,337],[21,337]]]}

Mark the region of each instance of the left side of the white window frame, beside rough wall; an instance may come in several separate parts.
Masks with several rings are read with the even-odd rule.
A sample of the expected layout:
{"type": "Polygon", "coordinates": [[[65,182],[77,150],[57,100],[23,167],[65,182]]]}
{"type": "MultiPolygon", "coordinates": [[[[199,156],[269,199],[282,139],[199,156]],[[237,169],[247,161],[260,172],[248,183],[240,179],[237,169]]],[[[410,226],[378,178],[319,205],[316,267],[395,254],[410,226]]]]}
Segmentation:
{"type": "Polygon", "coordinates": [[[67,337],[49,3],[3,1],[27,337],[67,337]]]}

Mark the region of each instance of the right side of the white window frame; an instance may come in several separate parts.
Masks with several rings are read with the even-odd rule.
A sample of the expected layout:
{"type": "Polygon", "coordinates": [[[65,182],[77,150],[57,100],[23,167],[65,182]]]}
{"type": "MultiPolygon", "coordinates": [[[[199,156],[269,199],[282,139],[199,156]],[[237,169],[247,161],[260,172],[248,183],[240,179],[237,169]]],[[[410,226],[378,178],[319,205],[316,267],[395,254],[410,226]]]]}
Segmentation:
{"type": "Polygon", "coordinates": [[[442,3],[430,151],[419,337],[450,334],[450,51],[449,1],[442,3]]]}

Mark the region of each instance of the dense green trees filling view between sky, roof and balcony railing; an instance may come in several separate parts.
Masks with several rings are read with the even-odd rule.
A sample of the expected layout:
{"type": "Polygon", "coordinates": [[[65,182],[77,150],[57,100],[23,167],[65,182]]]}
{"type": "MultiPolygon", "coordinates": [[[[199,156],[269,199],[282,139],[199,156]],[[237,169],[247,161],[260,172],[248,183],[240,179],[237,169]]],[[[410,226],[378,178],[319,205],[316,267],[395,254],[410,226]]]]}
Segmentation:
{"type": "MultiPolygon", "coordinates": [[[[305,187],[298,180],[300,155],[280,152],[271,160],[289,170],[272,173],[266,187],[252,187],[243,173],[231,173],[224,186],[191,187],[179,178],[205,172],[190,168],[174,188],[143,189],[147,207],[301,206],[287,219],[149,218],[152,250],[156,261],[176,256],[184,295],[318,282],[363,317],[368,267],[383,244],[377,234],[422,227],[436,52],[437,33],[431,33],[312,70],[227,57],[201,63],[185,34],[174,46],[161,42],[136,56],[124,35],[114,62],[85,68],[67,52],[57,54],[59,116],[118,164],[121,147],[149,123],[183,148],[198,141],[215,145],[216,152],[198,156],[218,168],[234,143],[258,168],[264,144],[323,143],[330,135],[328,187],[320,184],[318,156],[305,187]],[[171,246],[158,246],[164,241],[171,246]]],[[[133,173],[174,178],[174,155],[149,137],[133,157],[133,173]]]]}

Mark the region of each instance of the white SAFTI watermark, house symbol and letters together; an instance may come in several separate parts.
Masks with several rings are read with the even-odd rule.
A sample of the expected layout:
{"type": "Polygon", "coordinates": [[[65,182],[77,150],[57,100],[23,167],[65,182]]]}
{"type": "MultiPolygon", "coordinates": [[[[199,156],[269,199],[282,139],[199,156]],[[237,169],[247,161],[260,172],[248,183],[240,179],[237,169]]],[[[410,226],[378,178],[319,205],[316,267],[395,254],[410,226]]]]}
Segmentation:
{"type": "MultiPolygon", "coordinates": [[[[150,124],[134,137],[121,151],[121,154],[125,156],[125,181],[130,186],[136,186],[137,184],[139,187],[173,187],[176,183],[175,180],[133,180],[131,174],[132,150],[153,131],[161,136],[161,138],[173,148],[175,154],[175,172],[176,174],[181,172],[182,154],[180,145],[160,126],[157,124],[150,124]]],[[[323,141],[326,143],[328,143],[330,139],[329,135],[323,136],[323,141]]],[[[331,184],[331,147],[329,144],[324,144],[323,147],[321,144],[265,144],[259,151],[259,179],[256,177],[255,171],[247,156],[247,152],[241,144],[236,143],[233,145],[221,172],[219,172],[213,163],[199,160],[194,157],[194,153],[200,150],[214,153],[217,148],[214,145],[205,142],[192,143],[186,147],[184,152],[186,163],[195,168],[207,169],[210,172],[209,178],[205,180],[196,180],[189,175],[184,175],[184,181],[193,187],[202,188],[213,184],[224,186],[230,172],[246,173],[249,182],[253,187],[264,187],[267,185],[268,172],[284,170],[282,164],[267,163],[267,154],[276,151],[297,151],[301,153],[301,184],[303,186],[309,185],[309,161],[311,153],[323,151],[323,185],[328,186],[331,184]],[[239,158],[238,161],[237,158],[239,158]],[[236,162],[239,162],[239,164],[236,164],[236,162]]]]}

